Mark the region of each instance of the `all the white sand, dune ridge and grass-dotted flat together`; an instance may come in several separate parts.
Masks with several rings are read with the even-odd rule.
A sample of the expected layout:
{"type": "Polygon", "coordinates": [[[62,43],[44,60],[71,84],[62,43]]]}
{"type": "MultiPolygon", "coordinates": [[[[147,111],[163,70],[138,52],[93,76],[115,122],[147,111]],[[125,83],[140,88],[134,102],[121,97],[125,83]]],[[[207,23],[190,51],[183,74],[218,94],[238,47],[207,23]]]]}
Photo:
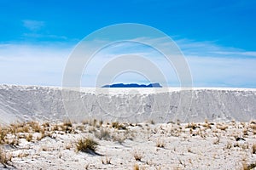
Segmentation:
{"type": "MultiPolygon", "coordinates": [[[[255,89],[82,88],[79,95],[73,103],[82,100],[90,109],[79,121],[67,122],[61,88],[1,85],[0,169],[256,166],[255,89]],[[192,100],[180,104],[182,93],[192,100]],[[132,105],[137,114],[129,118],[102,111],[125,116],[130,112],[124,107],[132,105]],[[96,141],[96,152],[78,150],[79,139],[96,141]]],[[[72,106],[74,114],[80,111],[72,106]]]]}

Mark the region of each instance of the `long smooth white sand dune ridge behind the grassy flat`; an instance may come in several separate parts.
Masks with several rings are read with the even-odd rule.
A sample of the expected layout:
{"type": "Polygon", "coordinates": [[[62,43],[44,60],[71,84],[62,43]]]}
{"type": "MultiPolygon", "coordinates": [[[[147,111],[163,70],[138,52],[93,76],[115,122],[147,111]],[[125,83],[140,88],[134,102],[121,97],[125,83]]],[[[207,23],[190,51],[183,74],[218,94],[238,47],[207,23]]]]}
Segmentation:
{"type": "Polygon", "coordinates": [[[82,88],[0,86],[0,123],[88,117],[120,122],[247,122],[256,118],[252,88],[82,88]],[[79,95],[78,95],[79,94],[79,95]],[[64,103],[63,103],[64,101],[64,103]],[[121,117],[121,118],[120,118],[121,117]]]}

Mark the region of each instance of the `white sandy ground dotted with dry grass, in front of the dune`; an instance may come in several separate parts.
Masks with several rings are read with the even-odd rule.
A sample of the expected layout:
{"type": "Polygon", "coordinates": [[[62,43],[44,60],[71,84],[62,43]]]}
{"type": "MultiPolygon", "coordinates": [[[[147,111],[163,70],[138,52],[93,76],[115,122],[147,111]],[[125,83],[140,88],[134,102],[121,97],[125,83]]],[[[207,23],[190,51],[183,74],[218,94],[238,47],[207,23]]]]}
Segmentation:
{"type": "Polygon", "coordinates": [[[30,122],[2,127],[1,132],[7,132],[1,150],[11,160],[4,165],[0,163],[0,169],[250,169],[256,166],[256,122],[30,122]],[[77,150],[79,139],[84,138],[98,143],[96,152],[77,150]]]}

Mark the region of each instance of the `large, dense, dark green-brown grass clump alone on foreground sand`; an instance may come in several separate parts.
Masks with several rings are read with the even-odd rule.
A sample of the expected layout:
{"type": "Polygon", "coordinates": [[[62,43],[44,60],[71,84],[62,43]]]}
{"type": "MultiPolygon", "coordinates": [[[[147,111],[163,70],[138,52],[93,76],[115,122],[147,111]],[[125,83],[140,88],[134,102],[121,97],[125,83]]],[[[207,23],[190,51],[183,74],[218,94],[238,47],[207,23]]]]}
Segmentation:
{"type": "Polygon", "coordinates": [[[77,150],[86,153],[96,152],[98,143],[94,139],[84,138],[79,139],[76,144],[77,150]]]}

